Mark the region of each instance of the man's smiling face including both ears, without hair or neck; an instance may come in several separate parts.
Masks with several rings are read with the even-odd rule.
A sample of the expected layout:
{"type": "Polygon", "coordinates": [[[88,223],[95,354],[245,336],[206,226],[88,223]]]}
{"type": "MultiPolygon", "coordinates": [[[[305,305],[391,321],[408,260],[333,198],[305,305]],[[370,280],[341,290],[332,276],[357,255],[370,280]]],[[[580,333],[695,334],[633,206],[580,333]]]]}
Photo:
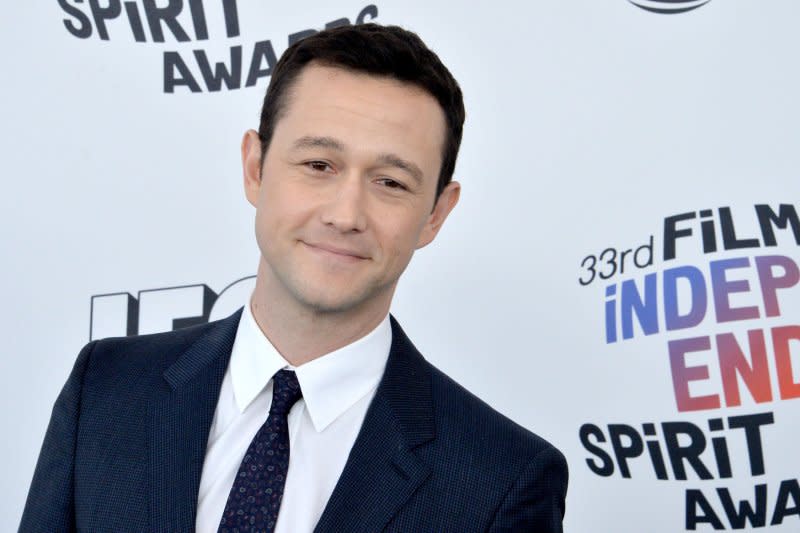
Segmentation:
{"type": "Polygon", "coordinates": [[[414,86],[313,63],[287,97],[260,173],[257,134],[242,144],[260,282],[317,312],[388,309],[458,201],[454,182],[434,207],[444,113],[414,86]]]}

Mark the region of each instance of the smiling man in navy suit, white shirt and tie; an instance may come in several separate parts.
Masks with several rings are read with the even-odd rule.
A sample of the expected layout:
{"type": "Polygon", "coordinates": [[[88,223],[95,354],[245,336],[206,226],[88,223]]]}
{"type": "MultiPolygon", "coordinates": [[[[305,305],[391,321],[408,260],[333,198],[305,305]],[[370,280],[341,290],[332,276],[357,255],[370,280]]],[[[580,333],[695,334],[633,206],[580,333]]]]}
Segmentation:
{"type": "Polygon", "coordinates": [[[84,348],[20,530],[561,531],[563,456],[389,316],[458,202],[463,120],[413,33],[290,47],[242,141],[261,251],[249,305],[84,348]]]}

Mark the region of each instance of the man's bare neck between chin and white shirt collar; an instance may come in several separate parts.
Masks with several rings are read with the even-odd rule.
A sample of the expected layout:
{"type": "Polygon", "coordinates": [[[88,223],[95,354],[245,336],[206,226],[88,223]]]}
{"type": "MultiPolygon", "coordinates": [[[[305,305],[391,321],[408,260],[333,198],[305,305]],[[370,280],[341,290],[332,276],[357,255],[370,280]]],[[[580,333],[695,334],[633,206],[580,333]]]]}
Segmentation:
{"type": "Polygon", "coordinates": [[[389,312],[394,287],[388,295],[352,309],[320,311],[288,295],[268,270],[262,259],[250,308],[261,331],[294,366],[355,342],[375,329],[389,312]]]}

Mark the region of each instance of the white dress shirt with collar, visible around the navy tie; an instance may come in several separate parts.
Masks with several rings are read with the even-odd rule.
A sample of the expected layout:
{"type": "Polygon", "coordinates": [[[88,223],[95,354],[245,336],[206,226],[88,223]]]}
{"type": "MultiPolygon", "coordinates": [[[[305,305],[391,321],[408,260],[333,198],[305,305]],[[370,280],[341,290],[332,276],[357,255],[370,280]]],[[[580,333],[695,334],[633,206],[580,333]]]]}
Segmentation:
{"type": "Polygon", "coordinates": [[[293,367],[261,331],[248,302],[208,435],[198,533],[217,532],[242,458],[269,414],[272,376],[282,368],[297,373],[303,397],[289,411],[289,470],[275,533],[313,531],[375,395],[391,342],[386,315],[359,340],[293,367]]]}

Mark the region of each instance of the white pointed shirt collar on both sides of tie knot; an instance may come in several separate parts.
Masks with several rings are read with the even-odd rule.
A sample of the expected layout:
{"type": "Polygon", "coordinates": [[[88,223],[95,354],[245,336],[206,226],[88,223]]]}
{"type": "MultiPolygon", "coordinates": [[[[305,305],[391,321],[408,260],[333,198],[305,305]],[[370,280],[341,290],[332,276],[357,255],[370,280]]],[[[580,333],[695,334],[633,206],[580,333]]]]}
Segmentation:
{"type": "Polygon", "coordinates": [[[256,323],[250,303],[244,306],[231,351],[231,380],[239,412],[264,390],[282,368],[294,370],[314,429],[324,430],[354,403],[378,386],[389,358],[389,315],[355,342],[293,367],[256,323]]]}

